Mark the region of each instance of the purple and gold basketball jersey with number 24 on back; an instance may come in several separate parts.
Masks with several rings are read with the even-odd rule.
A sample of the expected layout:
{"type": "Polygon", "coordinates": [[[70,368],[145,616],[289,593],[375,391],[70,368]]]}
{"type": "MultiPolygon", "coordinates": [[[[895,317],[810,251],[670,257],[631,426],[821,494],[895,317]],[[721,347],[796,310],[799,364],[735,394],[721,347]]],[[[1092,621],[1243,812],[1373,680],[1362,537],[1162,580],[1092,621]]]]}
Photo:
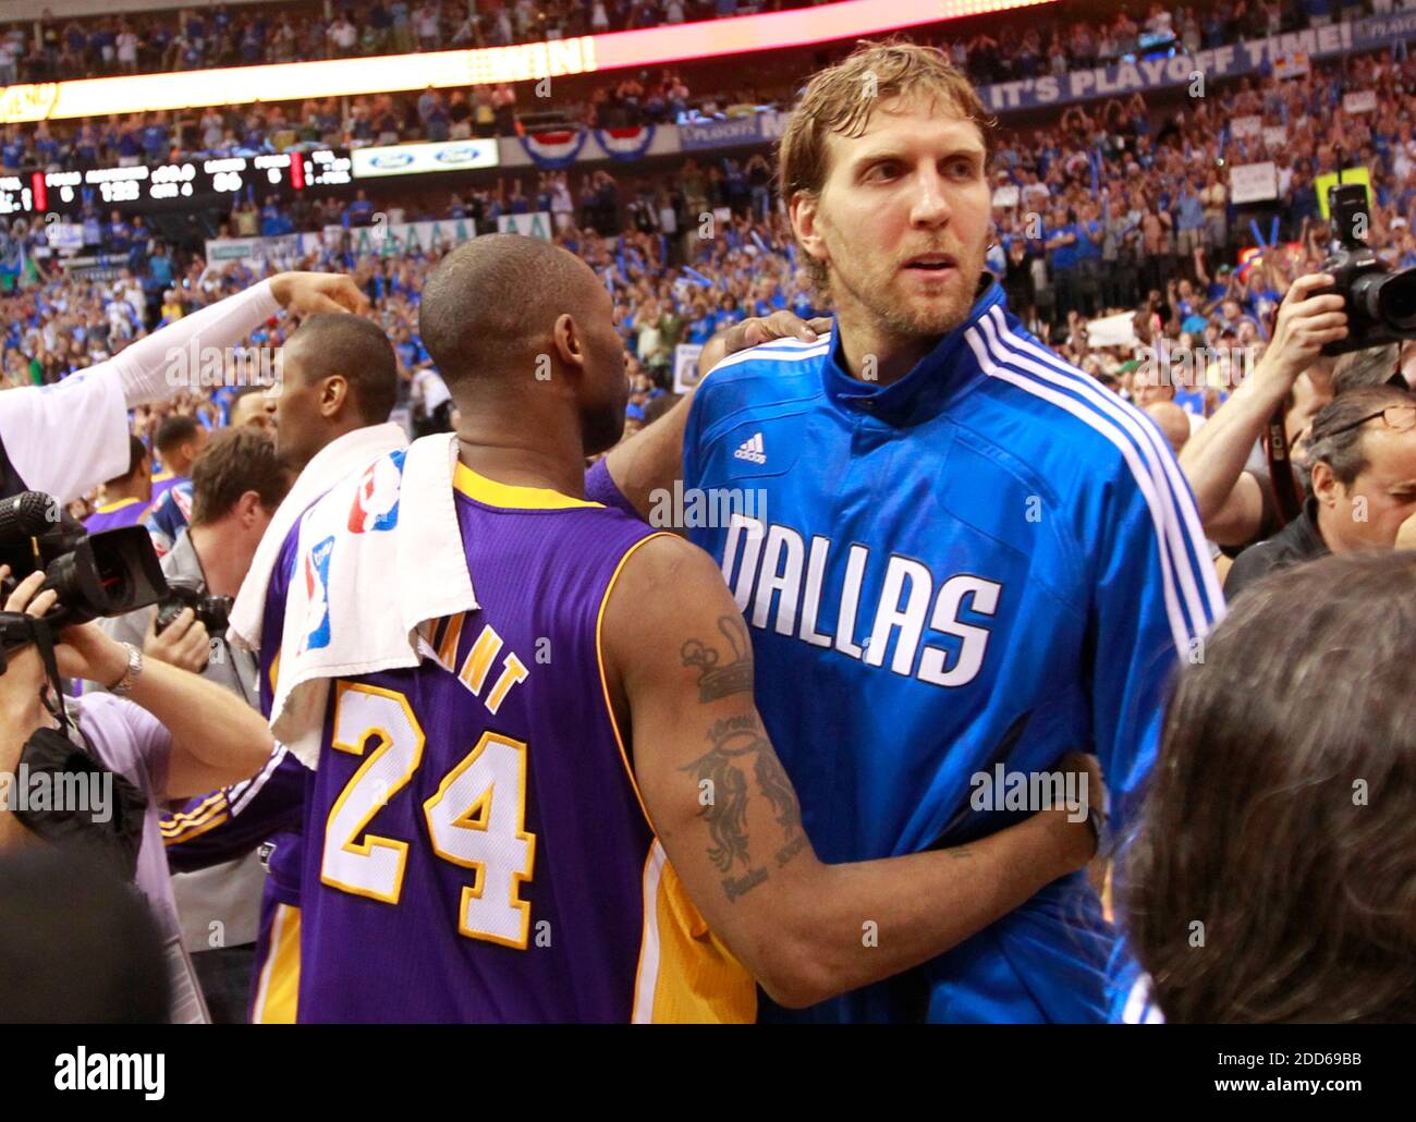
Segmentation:
{"type": "Polygon", "coordinates": [[[416,669],[330,690],[299,1020],[752,1020],[753,982],[666,861],[609,707],[600,618],[653,531],[463,466],[456,490],[480,608],[425,625],[416,669]]]}

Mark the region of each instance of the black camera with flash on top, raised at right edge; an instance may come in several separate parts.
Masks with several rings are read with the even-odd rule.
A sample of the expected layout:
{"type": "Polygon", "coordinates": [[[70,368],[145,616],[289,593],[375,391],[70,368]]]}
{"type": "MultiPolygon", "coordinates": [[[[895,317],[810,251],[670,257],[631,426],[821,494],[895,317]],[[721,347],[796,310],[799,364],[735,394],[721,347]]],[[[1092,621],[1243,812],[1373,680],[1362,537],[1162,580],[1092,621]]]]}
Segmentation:
{"type": "Polygon", "coordinates": [[[1347,300],[1347,339],[1327,343],[1323,353],[1347,354],[1402,339],[1416,339],[1416,268],[1393,272],[1358,234],[1366,234],[1366,187],[1340,183],[1328,188],[1328,214],[1341,249],[1323,262],[1337,280],[1320,295],[1347,300]]]}

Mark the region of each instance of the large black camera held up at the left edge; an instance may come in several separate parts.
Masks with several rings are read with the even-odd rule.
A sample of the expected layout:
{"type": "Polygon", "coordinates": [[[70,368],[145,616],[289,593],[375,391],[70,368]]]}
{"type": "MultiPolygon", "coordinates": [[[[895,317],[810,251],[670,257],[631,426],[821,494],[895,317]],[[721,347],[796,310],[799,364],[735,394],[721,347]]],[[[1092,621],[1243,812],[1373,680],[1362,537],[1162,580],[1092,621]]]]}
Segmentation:
{"type": "Polygon", "coordinates": [[[45,616],[51,628],[88,623],[156,604],[167,592],[153,540],[140,526],[88,534],[44,492],[0,500],[0,564],[10,567],[3,592],[35,570],[58,594],[45,616]]]}

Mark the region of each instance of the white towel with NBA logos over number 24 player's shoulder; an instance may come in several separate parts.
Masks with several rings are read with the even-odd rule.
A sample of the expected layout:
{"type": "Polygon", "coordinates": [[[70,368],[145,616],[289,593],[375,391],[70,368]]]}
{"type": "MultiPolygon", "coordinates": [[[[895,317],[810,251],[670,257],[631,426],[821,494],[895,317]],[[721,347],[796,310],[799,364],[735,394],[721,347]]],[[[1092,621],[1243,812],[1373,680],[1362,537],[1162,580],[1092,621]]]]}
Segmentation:
{"type": "Polygon", "coordinates": [[[300,520],[270,728],[319,765],[331,679],[418,666],[419,625],[477,608],[467,572],[452,434],[388,452],[300,520]]]}

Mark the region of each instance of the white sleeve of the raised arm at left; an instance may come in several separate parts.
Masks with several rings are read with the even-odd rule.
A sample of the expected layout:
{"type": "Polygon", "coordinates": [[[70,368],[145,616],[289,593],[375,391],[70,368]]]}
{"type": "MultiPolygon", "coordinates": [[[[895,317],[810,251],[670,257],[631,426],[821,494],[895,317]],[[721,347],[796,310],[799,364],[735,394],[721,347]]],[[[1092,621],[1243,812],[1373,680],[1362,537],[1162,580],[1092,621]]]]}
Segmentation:
{"type": "Polygon", "coordinates": [[[262,280],[126,347],[55,385],[0,392],[0,443],[24,486],[68,503],[127,470],[127,411],[170,397],[200,377],[173,351],[239,343],[280,303],[262,280]]]}

